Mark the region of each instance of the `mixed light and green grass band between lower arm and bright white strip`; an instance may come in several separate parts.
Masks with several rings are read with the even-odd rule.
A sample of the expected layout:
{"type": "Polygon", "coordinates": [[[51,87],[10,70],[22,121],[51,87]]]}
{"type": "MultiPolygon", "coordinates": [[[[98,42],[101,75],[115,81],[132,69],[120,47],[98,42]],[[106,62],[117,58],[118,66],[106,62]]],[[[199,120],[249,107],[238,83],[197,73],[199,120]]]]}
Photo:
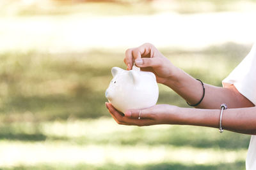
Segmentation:
{"type": "Polygon", "coordinates": [[[0,138],[8,141],[65,141],[76,145],[170,145],[193,148],[223,148],[239,150],[248,148],[250,136],[225,132],[220,136],[216,129],[161,125],[152,127],[126,127],[114,120],[69,120],[54,122],[16,122],[1,124],[0,138]],[[84,129],[81,131],[81,129],[84,129]],[[198,132],[200,131],[200,134],[198,132]],[[124,136],[125,133],[125,136],[124,136]],[[210,136],[208,134],[211,134],[210,136]],[[112,138],[109,138],[112,136],[112,138]],[[189,136],[189,138],[188,138],[189,136]],[[236,139],[236,140],[234,140],[236,139]]]}

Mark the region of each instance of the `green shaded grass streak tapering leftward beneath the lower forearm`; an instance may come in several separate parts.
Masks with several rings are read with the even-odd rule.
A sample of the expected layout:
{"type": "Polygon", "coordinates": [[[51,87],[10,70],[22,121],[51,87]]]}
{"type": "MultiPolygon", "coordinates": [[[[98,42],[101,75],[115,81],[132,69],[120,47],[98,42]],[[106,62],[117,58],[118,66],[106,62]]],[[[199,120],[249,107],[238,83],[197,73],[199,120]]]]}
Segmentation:
{"type": "Polygon", "coordinates": [[[141,128],[131,132],[115,132],[115,134],[102,134],[99,138],[79,139],[79,144],[99,143],[100,145],[171,145],[171,146],[189,146],[193,148],[225,148],[228,150],[247,149],[250,141],[250,135],[237,134],[225,131],[225,135],[212,131],[205,131],[203,127],[191,127],[184,129],[182,126],[175,126],[170,129],[158,129],[145,131],[141,128]],[[112,136],[109,138],[109,136],[112,136]]]}

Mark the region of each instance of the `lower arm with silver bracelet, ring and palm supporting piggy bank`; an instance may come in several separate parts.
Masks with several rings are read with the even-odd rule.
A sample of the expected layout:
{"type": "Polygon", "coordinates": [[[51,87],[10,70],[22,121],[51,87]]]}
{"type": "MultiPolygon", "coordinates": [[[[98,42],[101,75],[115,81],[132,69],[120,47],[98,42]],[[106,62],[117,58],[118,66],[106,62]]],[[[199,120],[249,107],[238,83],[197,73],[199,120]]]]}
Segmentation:
{"type": "MultiPolygon", "coordinates": [[[[123,125],[179,124],[215,128],[219,128],[220,125],[220,109],[179,108],[168,104],[159,104],[141,110],[141,119],[138,120],[140,110],[129,110],[125,112],[125,116],[122,116],[111,104],[106,103],[106,106],[116,122],[123,125]]],[[[256,107],[227,109],[223,111],[222,128],[255,135],[255,120],[256,107]]]]}

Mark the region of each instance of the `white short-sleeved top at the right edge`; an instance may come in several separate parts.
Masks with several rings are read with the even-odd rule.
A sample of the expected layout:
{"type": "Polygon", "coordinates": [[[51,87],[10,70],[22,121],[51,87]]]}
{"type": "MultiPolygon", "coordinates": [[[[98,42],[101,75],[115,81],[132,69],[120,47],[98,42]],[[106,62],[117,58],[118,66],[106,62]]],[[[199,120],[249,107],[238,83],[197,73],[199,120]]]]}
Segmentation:
{"type": "MultiPolygon", "coordinates": [[[[244,60],[222,81],[222,84],[223,87],[234,84],[243,96],[256,105],[256,43],[244,60]]],[[[252,135],[250,141],[246,169],[256,169],[256,135],[252,135]]]]}

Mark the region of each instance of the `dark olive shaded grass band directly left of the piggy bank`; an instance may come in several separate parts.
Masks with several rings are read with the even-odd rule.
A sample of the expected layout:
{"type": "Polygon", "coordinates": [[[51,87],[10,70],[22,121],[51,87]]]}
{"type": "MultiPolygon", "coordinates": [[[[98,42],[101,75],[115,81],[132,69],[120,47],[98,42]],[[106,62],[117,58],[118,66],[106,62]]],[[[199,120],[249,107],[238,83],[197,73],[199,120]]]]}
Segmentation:
{"type": "MultiPolygon", "coordinates": [[[[67,118],[97,118],[107,115],[104,92],[77,96],[12,96],[1,107],[4,122],[26,121],[26,113],[31,113],[29,120],[56,120],[67,118]]],[[[84,92],[86,93],[86,92],[84,92]]]]}

